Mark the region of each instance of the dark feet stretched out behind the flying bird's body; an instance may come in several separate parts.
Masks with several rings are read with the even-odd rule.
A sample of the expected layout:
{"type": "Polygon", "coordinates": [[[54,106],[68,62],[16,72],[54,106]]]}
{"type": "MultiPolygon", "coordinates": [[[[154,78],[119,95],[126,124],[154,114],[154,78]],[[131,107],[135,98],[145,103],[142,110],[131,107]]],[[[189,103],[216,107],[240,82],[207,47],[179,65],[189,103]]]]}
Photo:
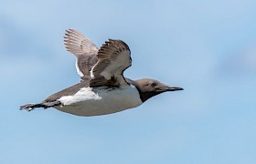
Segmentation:
{"type": "Polygon", "coordinates": [[[27,104],[24,106],[20,106],[19,108],[25,109],[27,111],[31,111],[35,108],[51,108],[51,107],[55,107],[55,106],[59,106],[61,105],[61,103],[59,101],[53,101],[53,102],[43,102],[43,103],[39,103],[39,104],[27,104]]]}

